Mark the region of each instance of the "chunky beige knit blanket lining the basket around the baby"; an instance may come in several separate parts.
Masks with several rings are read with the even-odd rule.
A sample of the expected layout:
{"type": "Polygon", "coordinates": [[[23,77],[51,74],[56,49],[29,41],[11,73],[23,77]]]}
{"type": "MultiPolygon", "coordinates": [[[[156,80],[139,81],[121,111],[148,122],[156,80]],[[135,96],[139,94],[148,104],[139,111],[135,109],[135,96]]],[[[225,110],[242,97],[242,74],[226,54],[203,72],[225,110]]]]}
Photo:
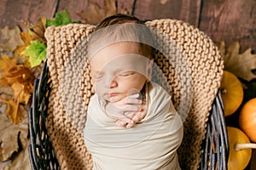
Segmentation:
{"type": "MultiPolygon", "coordinates": [[[[180,20],[152,20],[146,25],[166,35],[154,37],[160,52],[183,56],[166,59],[156,52],[154,62],[165,75],[177,111],[183,112],[183,108],[189,107],[189,115],[184,116],[184,137],[178,156],[182,169],[197,169],[207,118],[220,86],[224,61],[212,40],[194,26],[180,20]],[[180,54],[170,45],[173,43],[180,54]],[[186,99],[191,99],[191,105],[184,102],[186,99]]],[[[95,26],[71,24],[49,27],[45,33],[52,81],[47,129],[61,169],[92,168],[83,129],[87,105],[94,94],[90,67],[85,59],[86,38],[94,29],[95,26]]]]}

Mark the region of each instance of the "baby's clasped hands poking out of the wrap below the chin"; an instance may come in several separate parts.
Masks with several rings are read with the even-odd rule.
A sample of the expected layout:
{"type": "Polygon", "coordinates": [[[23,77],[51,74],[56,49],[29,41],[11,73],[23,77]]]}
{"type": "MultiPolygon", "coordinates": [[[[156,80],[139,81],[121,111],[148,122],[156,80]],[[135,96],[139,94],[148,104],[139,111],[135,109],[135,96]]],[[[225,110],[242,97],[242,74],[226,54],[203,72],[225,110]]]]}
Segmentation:
{"type": "Polygon", "coordinates": [[[115,103],[106,105],[110,118],[116,120],[119,127],[132,127],[146,116],[145,105],[139,99],[139,94],[133,94],[115,103]]]}

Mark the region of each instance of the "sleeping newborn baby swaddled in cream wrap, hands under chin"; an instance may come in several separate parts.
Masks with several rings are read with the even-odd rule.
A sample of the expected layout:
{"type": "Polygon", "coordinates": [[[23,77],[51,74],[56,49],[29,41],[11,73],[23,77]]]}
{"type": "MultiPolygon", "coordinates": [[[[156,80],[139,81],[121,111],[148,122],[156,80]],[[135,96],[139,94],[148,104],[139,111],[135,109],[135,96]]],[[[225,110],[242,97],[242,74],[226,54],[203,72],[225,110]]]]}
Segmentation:
{"type": "Polygon", "coordinates": [[[183,122],[171,95],[151,82],[153,41],[143,21],[117,14],[102,20],[88,42],[96,94],[84,141],[95,170],[180,169],[183,122]]]}

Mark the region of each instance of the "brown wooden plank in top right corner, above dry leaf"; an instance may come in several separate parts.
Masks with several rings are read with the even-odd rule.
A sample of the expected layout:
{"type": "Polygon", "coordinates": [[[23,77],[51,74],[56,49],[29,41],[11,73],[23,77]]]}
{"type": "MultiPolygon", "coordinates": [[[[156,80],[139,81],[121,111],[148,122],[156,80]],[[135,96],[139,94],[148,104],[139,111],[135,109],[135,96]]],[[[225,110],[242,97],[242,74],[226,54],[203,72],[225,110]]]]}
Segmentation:
{"type": "Polygon", "coordinates": [[[215,42],[227,45],[239,41],[241,51],[253,48],[256,53],[256,1],[207,0],[203,1],[199,28],[215,42]]]}

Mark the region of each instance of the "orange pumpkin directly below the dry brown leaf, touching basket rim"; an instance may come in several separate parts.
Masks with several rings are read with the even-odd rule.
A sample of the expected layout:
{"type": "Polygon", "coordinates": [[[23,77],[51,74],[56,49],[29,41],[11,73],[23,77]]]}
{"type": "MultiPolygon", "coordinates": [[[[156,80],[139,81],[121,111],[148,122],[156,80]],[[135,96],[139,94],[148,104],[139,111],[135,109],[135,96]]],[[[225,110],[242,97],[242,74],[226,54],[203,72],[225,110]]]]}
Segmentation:
{"type": "Polygon", "coordinates": [[[224,104],[224,116],[230,116],[238,109],[243,99],[241,82],[230,71],[224,71],[220,90],[224,104]]]}

